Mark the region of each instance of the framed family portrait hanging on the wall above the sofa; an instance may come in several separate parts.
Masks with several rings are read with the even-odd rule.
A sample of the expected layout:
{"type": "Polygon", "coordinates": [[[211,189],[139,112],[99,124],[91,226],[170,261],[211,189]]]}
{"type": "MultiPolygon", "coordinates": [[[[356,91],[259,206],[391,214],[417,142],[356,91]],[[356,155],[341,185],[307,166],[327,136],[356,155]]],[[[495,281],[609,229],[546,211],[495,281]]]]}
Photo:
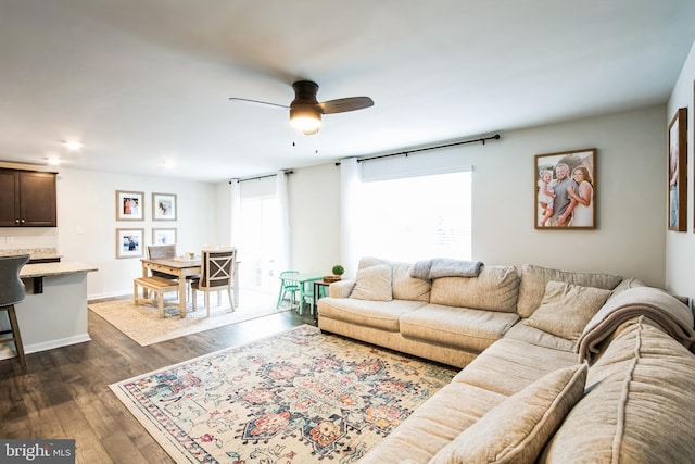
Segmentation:
{"type": "Polygon", "coordinates": [[[587,148],[535,155],[536,229],[596,229],[596,152],[587,148]]]}

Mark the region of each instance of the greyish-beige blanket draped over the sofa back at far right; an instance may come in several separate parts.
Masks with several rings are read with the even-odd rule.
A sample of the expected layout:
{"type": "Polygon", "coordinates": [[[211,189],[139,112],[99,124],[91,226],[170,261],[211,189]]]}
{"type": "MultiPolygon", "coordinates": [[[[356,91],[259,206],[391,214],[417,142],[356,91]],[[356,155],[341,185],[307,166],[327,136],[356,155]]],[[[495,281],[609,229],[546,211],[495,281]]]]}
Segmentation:
{"type": "Polygon", "coordinates": [[[695,341],[693,313],[675,297],[654,287],[634,287],[609,299],[589,321],[577,341],[579,362],[599,352],[597,346],[618,326],[635,316],[644,315],[685,348],[695,341]]]}

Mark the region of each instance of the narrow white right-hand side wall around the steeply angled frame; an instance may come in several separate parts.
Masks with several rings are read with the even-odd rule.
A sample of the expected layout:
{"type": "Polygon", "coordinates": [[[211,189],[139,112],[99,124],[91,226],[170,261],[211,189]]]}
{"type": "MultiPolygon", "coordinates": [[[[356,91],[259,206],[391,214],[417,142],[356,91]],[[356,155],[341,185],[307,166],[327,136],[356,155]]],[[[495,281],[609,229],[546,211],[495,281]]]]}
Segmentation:
{"type": "MultiPolygon", "coordinates": [[[[673,87],[673,92],[669,99],[666,110],[666,125],[664,131],[668,130],[668,124],[673,118],[679,108],[687,108],[687,227],[686,231],[667,231],[666,234],[666,286],[679,294],[695,297],[695,223],[693,209],[695,208],[695,192],[693,179],[695,178],[695,106],[693,99],[695,80],[695,43],[691,49],[680,77],[673,87]]],[[[666,145],[665,145],[666,150],[666,145]]],[[[664,184],[666,190],[666,184],[664,184]]]]}

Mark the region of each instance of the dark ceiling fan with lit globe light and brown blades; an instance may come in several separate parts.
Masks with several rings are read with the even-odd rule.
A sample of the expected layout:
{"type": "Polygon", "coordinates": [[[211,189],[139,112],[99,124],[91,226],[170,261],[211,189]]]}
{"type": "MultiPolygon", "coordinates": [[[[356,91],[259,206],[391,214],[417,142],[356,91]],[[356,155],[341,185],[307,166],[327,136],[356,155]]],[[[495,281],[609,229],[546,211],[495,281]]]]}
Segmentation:
{"type": "Polygon", "coordinates": [[[363,110],[374,105],[374,101],[369,97],[350,97],[319,102],[316,100],[318,84],[312,80],[298,80],[292,84],[292,88],[294,89],[294,100],[292,100],[289,106],[236,97],[231,97],[229,100],[289,109],[290,124],[307,136],[318,133],[323,114],[345,113],[348,111],[363,110]]]}

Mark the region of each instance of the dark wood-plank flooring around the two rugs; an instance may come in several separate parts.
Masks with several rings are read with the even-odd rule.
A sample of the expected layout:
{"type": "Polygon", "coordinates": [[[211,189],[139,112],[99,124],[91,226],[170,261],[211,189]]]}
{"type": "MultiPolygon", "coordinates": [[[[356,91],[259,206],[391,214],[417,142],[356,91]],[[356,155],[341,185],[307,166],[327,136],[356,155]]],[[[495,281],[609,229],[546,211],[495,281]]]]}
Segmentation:
{"type": "Polygon", "coordinates": [[[77,463],[173,463],[110,384],[314,324],[287,311],[140,347],[88,313],[91,341],[28,354],[26,373],[16,359],[0,361],[0,438],[75,439],[77,463]]]}

